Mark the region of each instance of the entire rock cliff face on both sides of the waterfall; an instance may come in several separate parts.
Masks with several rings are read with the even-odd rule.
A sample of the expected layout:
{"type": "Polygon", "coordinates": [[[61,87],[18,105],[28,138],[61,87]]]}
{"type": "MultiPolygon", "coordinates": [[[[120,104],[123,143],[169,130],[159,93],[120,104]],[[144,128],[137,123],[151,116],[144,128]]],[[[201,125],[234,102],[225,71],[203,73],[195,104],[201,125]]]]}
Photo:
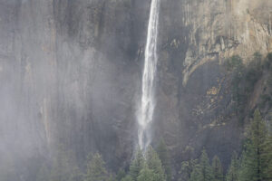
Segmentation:
{"type": "MultiPolygon", "coordinates": [[[[146,0],[2,0],[0,152],[49,157],[62,142],[79,161],[99,151],[113,170],[125,166],[137,143],[149,8],[146,0]]],[[[154,144],[166,139],[173,167],[189,147],[226,164],[242,131],[228,119],[221,63],[272,51],[272,3],[165,0],[160,11],[154,144]]]]}

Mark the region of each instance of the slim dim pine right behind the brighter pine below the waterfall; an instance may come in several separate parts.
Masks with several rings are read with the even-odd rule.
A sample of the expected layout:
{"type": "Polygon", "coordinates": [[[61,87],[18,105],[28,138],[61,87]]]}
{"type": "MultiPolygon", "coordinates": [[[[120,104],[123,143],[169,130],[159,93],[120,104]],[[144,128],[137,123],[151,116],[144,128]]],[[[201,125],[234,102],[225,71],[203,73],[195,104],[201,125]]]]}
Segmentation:
{"type": "Polygon", "coordinates": [[[165,170],[166,180],[170,181],[172,177],[170,168],[170,157],[163,138],[160,139],[160,144],[157,148],[157,154],[160,157],[162,167],[165,170]]]}

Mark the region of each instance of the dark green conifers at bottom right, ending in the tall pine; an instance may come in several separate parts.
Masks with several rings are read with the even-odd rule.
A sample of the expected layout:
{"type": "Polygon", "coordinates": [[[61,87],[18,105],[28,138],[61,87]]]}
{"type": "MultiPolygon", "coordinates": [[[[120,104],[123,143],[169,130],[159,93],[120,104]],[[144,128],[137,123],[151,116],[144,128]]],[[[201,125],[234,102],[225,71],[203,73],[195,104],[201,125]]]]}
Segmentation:
{"type": "Polygon", "coordinates": [[[219,157],[212,159],[205,150],[199,160],[183,162],[180,181],[271,181],[272,180],[272,136],[258,110],[254,113],[247,131],[243,152],[234,153],[226,176],[219,157]],[[182,171],[184,173],[182,173],[182,171]]]}

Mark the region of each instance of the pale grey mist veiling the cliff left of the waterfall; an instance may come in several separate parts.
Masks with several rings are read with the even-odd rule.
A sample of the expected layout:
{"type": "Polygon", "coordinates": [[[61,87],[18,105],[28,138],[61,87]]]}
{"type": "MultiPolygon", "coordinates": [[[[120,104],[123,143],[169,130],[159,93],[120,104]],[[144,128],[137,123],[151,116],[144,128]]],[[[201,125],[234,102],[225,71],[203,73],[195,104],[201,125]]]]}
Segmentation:
{"type": "Polygon", "coordinates": [[[114,165],[131,157],[123,153],[137,139],[126,131],[137,131],[132,128],[141,65],[126,35],[131,30],[123,25],[129,12],[116,14],[119,22],[113,22],[112,5],[120,4],[1,1],[3,172],[12,165],[21,180],[31,180],[30,172],[50,160],[59,144],[72,149],[79,163],[90,152],[101,152],[114,165]]]}

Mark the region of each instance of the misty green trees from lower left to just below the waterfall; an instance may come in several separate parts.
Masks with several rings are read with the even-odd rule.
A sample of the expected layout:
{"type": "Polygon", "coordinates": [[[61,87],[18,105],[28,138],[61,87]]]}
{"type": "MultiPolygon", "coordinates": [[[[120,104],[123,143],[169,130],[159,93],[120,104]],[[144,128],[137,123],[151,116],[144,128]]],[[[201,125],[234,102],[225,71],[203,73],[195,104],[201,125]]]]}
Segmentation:
{"type": "Polygon", "coordinates": [[[58,149],[52,166],[43,165],[37,173],[36,181],[168,181],[170,162],[164,141],[161,140],[158,153],[149,148],[143,156],[139,149],[131,161],[129,171],[123,169],[115,176],[105,167],[99,153],[90,155],[84,172],[77,166],[73,152],[63,145],[58,149]],[[162,162],[162,161],[163,162],[162,162]],[[166,168],[166,169],[165,169],[166,168]],[[166,170],[166,171],[165,171],[166,170]]]}

